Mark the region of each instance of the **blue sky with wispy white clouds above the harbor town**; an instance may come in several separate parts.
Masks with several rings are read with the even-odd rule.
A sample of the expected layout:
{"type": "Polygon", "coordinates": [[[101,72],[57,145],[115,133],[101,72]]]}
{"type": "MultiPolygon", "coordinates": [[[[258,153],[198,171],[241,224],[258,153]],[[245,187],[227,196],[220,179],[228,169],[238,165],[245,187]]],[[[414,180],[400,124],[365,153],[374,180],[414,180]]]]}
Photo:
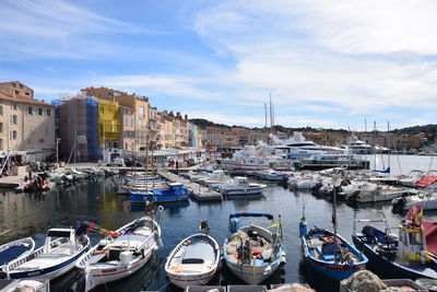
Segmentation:
{"type": "Polygon", "coordinates": [[[0,0],[0,80],[262,127],[437,121],[437,1],[0,0]]]}

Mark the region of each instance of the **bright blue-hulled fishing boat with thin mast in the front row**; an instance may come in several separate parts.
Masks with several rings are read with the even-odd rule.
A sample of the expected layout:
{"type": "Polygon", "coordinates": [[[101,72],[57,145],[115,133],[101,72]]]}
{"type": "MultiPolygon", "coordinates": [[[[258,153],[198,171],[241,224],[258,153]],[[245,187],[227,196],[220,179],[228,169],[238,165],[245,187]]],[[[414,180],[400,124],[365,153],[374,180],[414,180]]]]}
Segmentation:
{"type": "Polygon", "coordinates": [[[368,260],[336,233],[335,188],[332,198],[333,232],[316,226],[308,231],[304,206],[304,214],[299,222],[300,253],[315,270],[327,278],[341,281],[364,269],[368,260]]]}

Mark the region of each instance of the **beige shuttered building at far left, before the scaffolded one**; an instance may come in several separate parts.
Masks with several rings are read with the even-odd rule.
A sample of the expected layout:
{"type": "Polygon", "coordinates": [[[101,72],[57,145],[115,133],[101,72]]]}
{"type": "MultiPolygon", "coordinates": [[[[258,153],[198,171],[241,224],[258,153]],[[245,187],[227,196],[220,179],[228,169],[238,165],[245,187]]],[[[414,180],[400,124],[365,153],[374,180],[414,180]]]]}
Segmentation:
{"type": "Polygon", "coordinates": [[[55,107],[19,81],[0,82],[0,157],[44,161],[55,153],[55,107]]]}

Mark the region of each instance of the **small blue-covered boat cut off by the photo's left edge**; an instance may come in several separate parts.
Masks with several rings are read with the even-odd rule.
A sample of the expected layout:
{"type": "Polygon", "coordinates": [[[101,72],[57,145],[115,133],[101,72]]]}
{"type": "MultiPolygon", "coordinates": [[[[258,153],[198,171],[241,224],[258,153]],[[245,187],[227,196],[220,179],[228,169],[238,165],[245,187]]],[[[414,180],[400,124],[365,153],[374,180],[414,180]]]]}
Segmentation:
{"type": "Polygon", "coordinates": [[[28,256],[35,248],[35,242],[31,237],[21,238],[0,245],[0,269],[15,259],[28,256]]]}

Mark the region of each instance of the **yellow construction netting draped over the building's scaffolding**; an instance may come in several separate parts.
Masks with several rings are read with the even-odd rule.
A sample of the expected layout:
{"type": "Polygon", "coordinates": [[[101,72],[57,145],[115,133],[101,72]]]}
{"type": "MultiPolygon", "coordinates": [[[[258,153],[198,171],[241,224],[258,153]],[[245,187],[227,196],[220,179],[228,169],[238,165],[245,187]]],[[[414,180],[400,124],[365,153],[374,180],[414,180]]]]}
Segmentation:
{"type": "Polygon", "coordinates": [[[106,148],[108,141],[119,141],[121,133],[118,102],[98,98],[98,140],[106,148]]]}

